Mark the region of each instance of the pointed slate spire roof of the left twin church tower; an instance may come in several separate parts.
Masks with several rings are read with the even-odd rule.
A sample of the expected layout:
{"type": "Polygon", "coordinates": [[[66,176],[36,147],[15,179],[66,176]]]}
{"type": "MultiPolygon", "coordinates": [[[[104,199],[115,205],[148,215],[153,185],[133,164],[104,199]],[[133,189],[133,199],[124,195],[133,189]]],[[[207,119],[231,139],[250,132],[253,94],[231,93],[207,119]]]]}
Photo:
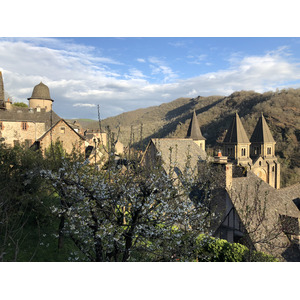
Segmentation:
{"type": "Polygon", "coordinates": [[[241,122],[241,119],[237,113],[233,117],[231,125],[226,133],[223,143],[242,143],[242,144],[250,144],[249,138],[246,134],[244,126],[241,122]]]}

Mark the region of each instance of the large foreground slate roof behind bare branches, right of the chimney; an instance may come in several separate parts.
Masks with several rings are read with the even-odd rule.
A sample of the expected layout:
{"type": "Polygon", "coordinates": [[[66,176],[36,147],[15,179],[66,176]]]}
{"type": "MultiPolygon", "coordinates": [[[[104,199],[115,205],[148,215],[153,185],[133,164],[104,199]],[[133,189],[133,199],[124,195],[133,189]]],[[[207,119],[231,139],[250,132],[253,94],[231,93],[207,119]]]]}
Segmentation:
{"type": "MultiPolygon", "coordinates": [[[[261,226],[255,229],[257,217],[253,216],[250,219],[249,228],[255,231],[252,234],[253,240],[261,239],[262,241],[257,243],[257,250],[276,254],[285,260],[293,261],[300,258],[300,249],[297,250],[297,247],[292,249],[287,235],[281,229],[279,230],[281,227],[278,219],[280,216],[288,216],[293,218],[296,224],[299,224],[300,211],[293,200],[300,197],[300,184],[277,190],[249,171],[247,177],[233,178],[232,189],[229,191],[229,194],[239,218],[244,224],[249,222],[245,214],[245,207],[254,207],[256,196],[259,197],[259,203],[262,205],[266,197],[266,215],[261,226]],[[259,186],[258,192],[256,191],[257,186],[259,186]],[[278,228],[277,236],[270,240],[268,244],[263,240],[268,235],[270,236],[270,231],[272,232],[272,230],[275,236],[276,230],[274,228],[278,228]]],[[[259,208],[256,209],[259,210],[259,208]]]]}

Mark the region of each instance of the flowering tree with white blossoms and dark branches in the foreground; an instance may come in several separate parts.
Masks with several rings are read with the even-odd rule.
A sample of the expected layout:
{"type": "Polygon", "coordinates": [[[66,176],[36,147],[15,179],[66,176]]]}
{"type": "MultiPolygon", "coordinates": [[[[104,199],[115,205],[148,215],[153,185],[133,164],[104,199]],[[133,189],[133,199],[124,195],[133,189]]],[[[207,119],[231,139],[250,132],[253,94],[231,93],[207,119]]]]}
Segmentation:
{"type": "Polygon", "coordinates": [[[160,166],[97,170],[65,160],[42,174],[59,195],[52,211],[79,249],[75,260],[191,260],[196,237],[209,231],[211,212],[190,200],[192,184],[178,184],[160,166]]]}

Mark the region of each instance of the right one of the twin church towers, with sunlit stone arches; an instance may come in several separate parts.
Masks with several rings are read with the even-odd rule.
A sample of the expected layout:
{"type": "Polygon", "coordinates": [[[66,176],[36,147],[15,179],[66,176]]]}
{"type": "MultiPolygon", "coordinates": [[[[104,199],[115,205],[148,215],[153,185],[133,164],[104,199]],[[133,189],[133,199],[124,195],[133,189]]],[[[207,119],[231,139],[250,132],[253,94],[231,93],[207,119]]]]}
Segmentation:
{"type": "Polygon", "coordinates": [[[275,156],[275,140],[263,116],[260,116],[250,138],[252,171],[274,188],[280,188],[280,164],[275,156]]]}

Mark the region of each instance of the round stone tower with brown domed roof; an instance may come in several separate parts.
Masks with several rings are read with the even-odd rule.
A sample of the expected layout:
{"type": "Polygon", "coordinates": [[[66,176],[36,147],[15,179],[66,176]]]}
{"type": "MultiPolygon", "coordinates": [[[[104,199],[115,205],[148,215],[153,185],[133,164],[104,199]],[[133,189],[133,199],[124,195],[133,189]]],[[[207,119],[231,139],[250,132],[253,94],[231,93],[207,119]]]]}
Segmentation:
{"type": "Polygon", "coordinates": [[[45,109],[45,111],[52,110],[52,103],[54,100],[50,97],[49,88],[42,82],[33,88],[32,96],[28,98],[29,108],[36,108],[37,111],[45,109]]]}

